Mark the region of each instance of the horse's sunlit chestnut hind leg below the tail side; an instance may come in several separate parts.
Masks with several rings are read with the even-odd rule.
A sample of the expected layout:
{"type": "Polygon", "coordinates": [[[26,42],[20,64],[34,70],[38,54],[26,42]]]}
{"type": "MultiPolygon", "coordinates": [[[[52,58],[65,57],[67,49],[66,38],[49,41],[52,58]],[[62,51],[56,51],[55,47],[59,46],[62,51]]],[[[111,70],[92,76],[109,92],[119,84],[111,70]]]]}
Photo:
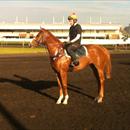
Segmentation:
{"type": "Polygon", "coordinates": [[[100,80],[99,95],[98,95],[98,97],[95,98],[95,100],[98,103],[102,103],[103,97],[104,97],[104,72],[103,72],[103,69],[98,69],[98,74],[99,74],[99,80],[100,80]]]}

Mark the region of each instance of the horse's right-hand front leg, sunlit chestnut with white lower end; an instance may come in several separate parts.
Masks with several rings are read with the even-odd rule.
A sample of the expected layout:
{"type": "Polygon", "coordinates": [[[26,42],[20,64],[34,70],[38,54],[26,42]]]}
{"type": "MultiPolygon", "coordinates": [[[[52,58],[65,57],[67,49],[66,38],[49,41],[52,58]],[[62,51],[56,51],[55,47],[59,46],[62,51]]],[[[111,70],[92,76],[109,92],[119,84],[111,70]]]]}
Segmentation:
{"type": "Polygon", "coordinates": [[[61,71],[60,72],[60,78],[61,78],[61,83],[62,83],[62,87],[64,90],[64,95],[65,95],[65,99],[63,101],[63,104],[68,104],[68,99],[69,99],[69,95],[68,95],[68,91],[67,91],[67,72],[66,71],[61,71]]]}

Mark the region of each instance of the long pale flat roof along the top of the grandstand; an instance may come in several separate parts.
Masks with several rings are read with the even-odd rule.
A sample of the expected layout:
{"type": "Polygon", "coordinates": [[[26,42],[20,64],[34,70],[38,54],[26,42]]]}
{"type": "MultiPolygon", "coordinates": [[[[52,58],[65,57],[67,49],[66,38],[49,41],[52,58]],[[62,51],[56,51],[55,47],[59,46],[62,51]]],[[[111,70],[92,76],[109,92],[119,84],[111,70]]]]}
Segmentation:
{"type": "MultiPolygon", "coordinates": [[[[82,24],[83,30],[119,30],[121,25],[115,24],[82,24]]],[[[68,30],[67,24],[40,24],[40,23],[0,23],[0,30],[39,30],[40,27],[48,30],[68,30]]]]}

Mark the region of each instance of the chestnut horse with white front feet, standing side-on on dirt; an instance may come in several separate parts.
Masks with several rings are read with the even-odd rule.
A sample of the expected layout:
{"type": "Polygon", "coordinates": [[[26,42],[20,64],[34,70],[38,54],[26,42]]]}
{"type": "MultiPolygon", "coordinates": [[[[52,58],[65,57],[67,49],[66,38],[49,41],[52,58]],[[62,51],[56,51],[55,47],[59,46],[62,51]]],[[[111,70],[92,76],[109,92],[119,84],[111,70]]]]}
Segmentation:
{"type": "MultiPolygon", "coordinates": [[[[51,66],[56,73],[59,86],[59,98],[57,104],[60,104],[64,98],[63,104],[68,103],[67,91],[67,72],[70,71],[71,58],[66,55],[63,43],[57,39],[51,32],[41,29],[37,36],[30,43],[31,47],[44,44],[49,52],[51,66]]],[[[71,71],[79,71],[87,65],[93,64],[99,76],[99,94],[95,98],[98,103],[103,101],[104,97],[104,69],[106,69],[106,77],[111,77],[111,59],[107,49],[98,45],[83,45],[86,47],[88,54],[79,58],[79,65],[71,69],[71,71]]]]}

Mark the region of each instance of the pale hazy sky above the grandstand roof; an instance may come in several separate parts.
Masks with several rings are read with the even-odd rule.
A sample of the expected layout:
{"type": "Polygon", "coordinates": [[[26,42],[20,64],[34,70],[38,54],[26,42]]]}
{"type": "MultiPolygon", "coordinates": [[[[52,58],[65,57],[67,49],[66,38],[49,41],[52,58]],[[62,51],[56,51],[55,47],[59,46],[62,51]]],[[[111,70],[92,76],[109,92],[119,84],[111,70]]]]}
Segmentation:
{"type": "Polygon", "coordinates": [[[0,1],[0,22],[14,22],[16,17],[24,22],[52,23],[62,22],[63,16],[67,22],[67,16],[76,12],[80,23],[118,23],[127,26],[130,23],[130,1],[79,1],[79,0],[23,0],[0,1]]]}

